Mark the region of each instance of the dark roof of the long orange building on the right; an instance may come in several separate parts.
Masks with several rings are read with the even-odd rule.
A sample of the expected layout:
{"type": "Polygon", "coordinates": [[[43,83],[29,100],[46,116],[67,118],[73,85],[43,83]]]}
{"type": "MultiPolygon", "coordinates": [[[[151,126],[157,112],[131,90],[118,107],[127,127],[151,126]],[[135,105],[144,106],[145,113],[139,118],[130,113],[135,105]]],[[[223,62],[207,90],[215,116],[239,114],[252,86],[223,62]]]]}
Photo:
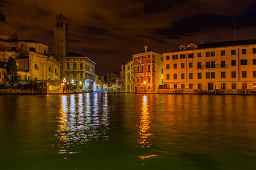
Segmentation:
{"type": "MultiPolygon", "coordinates": [[[[238,41],[221,41],[221,42],[213,42],[208,44],[198,44],[196,49],[206,49],[206,48],[218,48],[222,46],[237,46],[237,45],[249,45],[249,44],[256,44],[256,40],[238,40],[238,41]]],[[[191,49],[185,49],[191,50],[191,49]]],[[[171,52],[180,52],[185,50],[172,50],[171,52]]],[[[168,52],[166,52],[168,53],[168,52]]]]}

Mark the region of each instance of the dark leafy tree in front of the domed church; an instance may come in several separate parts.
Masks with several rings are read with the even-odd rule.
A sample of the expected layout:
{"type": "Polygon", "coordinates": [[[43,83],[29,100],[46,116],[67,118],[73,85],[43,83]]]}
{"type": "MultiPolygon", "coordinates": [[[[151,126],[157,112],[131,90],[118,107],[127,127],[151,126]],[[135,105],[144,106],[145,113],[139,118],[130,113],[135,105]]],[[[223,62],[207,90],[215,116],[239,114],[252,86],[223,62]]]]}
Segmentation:
{"type": "Polygon", "coordinates": [[[18,66],[16,60],[13,57],[9,57],[6,65],[5,80],[8,82],[11,87],[14,87],[14,84],[17,84],[19,81],[18,76],[18,66]]]}

